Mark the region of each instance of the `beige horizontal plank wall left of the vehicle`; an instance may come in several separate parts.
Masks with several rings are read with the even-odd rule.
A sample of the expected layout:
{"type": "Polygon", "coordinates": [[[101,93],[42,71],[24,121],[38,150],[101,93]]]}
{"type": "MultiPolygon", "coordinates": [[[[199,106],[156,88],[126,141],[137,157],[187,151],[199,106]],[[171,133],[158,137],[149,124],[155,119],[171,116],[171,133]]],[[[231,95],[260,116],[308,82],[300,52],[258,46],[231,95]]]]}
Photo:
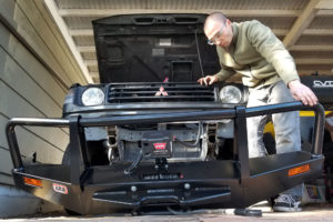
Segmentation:
{"type": "MultiPolygon", "coordinates": [[[[14,117],[60,118],[69,87],[88,82],[42,0],[0,0],[0,6],[1,204],[6,190],[10,189],[10,195],[16,195],[4,134],[8,120],[14,117]]],[[[61,162],[68,144],[67,129],[18,128],[17,133],[26,161],[37,153],[39,162],[61,162]]],[[[0,216],[2,210],[6,212],[2,206],[0,216]]],[[[16,206],[14,211],[18,209],[16,206]]]]}

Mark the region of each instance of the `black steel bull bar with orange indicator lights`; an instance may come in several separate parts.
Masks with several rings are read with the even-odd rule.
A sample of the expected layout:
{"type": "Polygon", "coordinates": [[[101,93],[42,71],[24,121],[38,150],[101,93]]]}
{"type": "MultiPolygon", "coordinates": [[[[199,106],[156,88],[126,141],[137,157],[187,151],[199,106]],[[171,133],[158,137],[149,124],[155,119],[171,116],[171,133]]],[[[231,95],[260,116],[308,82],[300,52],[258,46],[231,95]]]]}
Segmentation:
{"type": "Polygon", "coordinates": [[[324,119],[325,112],[321,104],[306,107],[301,102],[291,102],[131,117],[13,118],[6,130],[14,167],[12,174],[18,188],[79,213],[105,213],[150,205],[245,208],[315,179],[322,173],[324,160],[324,119]],[[312,151],[249,159],[246,118],[296,110],[315,111],[312,151]],[[234,160],[169,163],[168,171],[158,174],[153,163],[142,162],[135,172],[124,174],[124,169],[131,163],[90,165],[88,161],[83,131],[87,127],[219,119],[234,119],[233,149],[238,153],[234,160]],[[70,164],[23,165],[16,125],[69,127],[70,164]],[[293,170],[299,172],[300,169],[300,173],[291,174],[293,170]],[[41,183],[27,184],[29,179],[41,183]]]}

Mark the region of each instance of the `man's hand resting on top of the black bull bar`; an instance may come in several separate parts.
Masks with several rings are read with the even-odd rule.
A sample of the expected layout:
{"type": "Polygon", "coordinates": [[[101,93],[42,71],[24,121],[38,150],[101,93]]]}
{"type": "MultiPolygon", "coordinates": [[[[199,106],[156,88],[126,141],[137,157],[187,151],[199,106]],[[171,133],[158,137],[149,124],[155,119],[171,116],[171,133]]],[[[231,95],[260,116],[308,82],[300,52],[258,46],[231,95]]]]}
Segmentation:
{"type": "Polygon", "coordinates": [[[293,98],[297,101],[302,101],[305,105],[314,105],[317,102],[317,98],[313,93],[313,91],[302,84],[300,80],[293,80],[287,83],[287,87],[293,95],[293,98]]]}

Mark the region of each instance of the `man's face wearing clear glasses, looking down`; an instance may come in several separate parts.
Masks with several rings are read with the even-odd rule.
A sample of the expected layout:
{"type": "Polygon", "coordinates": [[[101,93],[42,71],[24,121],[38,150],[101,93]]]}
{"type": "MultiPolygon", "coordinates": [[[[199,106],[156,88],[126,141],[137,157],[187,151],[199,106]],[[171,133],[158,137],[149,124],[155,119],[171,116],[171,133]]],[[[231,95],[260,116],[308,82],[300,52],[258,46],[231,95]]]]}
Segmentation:
{"type": "Polygon", "coordinates": [[[222,48],[229,48],[233,33],[230,20],[225,23],[210,21],[204,30],[209,44],[216,44],[222,48]]]}

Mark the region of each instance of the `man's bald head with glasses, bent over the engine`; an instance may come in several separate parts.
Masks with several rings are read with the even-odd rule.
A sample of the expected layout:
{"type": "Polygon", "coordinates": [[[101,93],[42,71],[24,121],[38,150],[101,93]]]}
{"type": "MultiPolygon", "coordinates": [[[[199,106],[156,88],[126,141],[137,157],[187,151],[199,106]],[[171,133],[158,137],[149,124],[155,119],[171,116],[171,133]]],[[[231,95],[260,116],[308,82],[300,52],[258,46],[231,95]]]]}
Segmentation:
{"type": "Polygon", "coordinates": [[[205,19],[203,31],[210,44],[228,48],[232,41],[231,21],[221,12],[211,13],[205,19]]]}

